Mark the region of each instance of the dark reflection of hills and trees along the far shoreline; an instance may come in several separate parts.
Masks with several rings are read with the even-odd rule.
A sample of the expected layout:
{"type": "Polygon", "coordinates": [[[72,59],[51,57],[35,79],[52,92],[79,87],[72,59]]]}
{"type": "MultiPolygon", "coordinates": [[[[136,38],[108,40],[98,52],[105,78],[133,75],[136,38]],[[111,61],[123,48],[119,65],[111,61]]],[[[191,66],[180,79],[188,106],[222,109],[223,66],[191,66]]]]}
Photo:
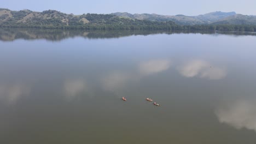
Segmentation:
{"type": "Polygon", "coordinates": [[[122,31],[81,31],[65,29],[33,29],[33,28],[0,28],[1,41],[13,41],[16,39],[34,40],[45,39],[60,41],[67,38],[83,37],[88,39],[120,38],[131,35],[149,34],[174,34],[174,33],[201,33],[201,34],[229,34],[229,35],[256,35],[250,32],[213,32],[213,31],[163,31],[163,30],[122,30],[122,31]]]}

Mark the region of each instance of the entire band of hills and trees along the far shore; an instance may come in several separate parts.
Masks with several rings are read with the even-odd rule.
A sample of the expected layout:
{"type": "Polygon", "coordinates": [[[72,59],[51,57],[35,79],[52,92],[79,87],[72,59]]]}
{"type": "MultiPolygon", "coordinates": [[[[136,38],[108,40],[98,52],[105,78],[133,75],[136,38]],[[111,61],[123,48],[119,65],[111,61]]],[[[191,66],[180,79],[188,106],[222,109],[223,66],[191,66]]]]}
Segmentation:
{"type": "Polygon", "coordinates": [[[176,15],[177,19],[156,14],[65,14],[56,10],[36,12],[0,8],[0,27],[59,29],[166,29],[203,31],[256,31],[255,16],[220,11],[199,16],[176,15]],[[185,21],[185,23],[182,23],[185,21]]]}

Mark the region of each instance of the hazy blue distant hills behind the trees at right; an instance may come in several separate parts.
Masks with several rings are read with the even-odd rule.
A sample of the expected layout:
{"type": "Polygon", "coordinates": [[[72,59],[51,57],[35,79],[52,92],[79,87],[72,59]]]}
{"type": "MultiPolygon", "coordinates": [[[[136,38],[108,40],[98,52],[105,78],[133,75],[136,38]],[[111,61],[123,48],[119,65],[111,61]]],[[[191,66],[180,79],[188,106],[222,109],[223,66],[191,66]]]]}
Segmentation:
{"type": "Polygon", "coordinates": [[[157,14],[129,14],[113,13],[121,17],[150,20],[150,21],[174,21],[178,25],[256,25],[256,16],[242,15],[232,12],[216,11],[198,16],[185,15],[157,15],[157,14]]]}

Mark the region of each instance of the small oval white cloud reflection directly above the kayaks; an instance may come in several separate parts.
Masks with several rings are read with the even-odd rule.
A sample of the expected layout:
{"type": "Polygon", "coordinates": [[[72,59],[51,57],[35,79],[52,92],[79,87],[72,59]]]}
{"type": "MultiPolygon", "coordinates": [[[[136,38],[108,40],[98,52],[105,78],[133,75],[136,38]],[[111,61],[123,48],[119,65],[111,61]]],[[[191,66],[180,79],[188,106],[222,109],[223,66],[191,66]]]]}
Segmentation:
{"type": "Polygon", "coordinates": [[[167,70],[168,68],[170,68],[170,66],[171,62],[167,59],[154,59],[139,64],[139,72],[142,75],[150,75],[167,70]]]}

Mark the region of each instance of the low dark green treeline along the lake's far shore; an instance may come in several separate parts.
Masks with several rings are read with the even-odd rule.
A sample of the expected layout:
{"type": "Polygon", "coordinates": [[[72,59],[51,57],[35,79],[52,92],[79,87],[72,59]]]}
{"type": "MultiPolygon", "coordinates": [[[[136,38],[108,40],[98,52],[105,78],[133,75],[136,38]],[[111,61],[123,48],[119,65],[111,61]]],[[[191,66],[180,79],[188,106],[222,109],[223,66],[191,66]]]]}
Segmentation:
{"type": "Polygon", "coordinates": [[[147,23],[137,25],[124,24],[95,24],[88,23],[84,25],[27,25],[20,23],[19,25],[0,25],[0,27],[17,27],[17,28],[51,28],[51,29],[98,29],[98,30],[113,30],[113,29],[158,29],[158,30],[191,30],[191,31],[244,31],[244,32],[256,32],[256,26],[251,25],[194,25],[194,26],[182,26],[174,25],[172,22],[161,22],[148,25],[147,23]]]}

